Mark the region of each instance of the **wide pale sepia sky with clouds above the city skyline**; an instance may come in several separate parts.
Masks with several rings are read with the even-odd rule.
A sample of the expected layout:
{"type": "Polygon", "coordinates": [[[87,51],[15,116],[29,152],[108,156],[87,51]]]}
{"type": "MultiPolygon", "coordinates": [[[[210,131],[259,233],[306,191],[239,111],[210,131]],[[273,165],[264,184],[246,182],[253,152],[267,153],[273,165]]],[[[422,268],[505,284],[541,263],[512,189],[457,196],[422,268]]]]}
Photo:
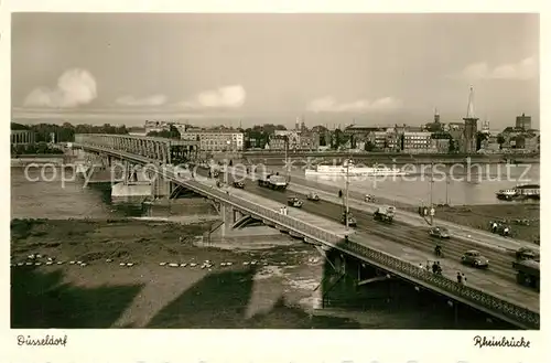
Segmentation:
{"type": "Polygon", "coordinates": [[[539,127],[537,14],[12,15],[12,119],[539,127]]]}

